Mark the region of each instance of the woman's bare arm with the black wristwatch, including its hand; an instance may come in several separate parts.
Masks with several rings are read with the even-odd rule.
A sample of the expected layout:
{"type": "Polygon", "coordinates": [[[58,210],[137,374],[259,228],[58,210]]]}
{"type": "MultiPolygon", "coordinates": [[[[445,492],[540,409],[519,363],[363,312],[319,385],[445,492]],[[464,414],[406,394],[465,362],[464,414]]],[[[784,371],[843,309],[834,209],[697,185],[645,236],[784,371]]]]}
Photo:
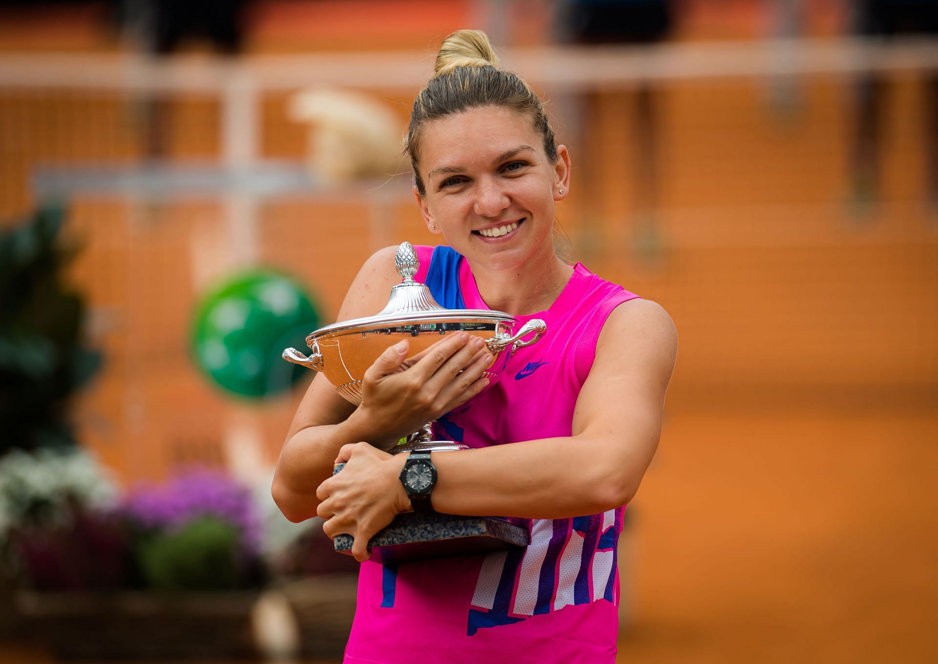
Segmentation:
{"type": "MultiPolygon", "coordinates": [[[[433,509],[556,519],[625,505],[658,447],[676,355],[677,332],[660,305],[619,305],[599,335],[572,436],[434,454],[433,509]]],[[[360,536],[356,557],[363,559],[364,542],[389,521],[388,507],[409,504],[398,479],[405,459],[360,446],[343,448],[339,459],[349,465],[319,488],[319,514],[329,520],[328,535],[360,536]],[[355,471],[358,455],[363,463],[355,471]],[[357,472],[368,481],[358,481],[357,472]]]]}

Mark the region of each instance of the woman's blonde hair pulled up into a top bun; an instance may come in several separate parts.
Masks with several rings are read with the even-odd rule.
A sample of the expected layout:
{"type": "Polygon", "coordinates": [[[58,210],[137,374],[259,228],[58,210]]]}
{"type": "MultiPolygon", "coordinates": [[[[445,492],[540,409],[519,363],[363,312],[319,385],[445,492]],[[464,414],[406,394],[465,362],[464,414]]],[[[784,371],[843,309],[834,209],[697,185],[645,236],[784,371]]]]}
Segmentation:
{"type": "Polygon", "coordinates": [[[486,106],[510,109],[531,119],[541,135],[544,154],[557,162],[557,143],[544,105],[526,82],[498,68],[498,56],[489,37],[481,30],[457,30],[443,40],[436,55],[433,77],[414,100],[407,128],[405,152],[414,169],[414,184],[420,196],[427,189],[417,162],[424,125],[462,111],[486,106]]]}

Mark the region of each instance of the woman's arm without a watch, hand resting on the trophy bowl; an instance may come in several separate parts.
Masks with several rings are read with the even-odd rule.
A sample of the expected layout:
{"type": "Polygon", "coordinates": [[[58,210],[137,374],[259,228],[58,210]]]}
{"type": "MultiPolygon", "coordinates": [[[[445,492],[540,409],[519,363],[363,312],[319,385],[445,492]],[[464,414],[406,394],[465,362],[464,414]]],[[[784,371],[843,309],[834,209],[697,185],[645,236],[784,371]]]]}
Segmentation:
{"type": "MultiPolygon", "coordinates": [[[[340,320],[370,316],[387,302],[399,281],[390,273],[395,247],[375,254],[356,277],[340,310],[340,320]]],[[[332,474],[340,448],[366,441],[390,449],[417,430],[475,396],[493,358],[481,339],[465,332],[447,334],[409,357],[410,343],[389,345],[362,379],[356,408],[342,399],[325,376],[316,376],[296,411],[271,486],[274,501],[294,522],[316,514],[316,488],[332,474]],[[406,371],[405,371],[406,369],[406,371]]],[[[406,507],[406,505],[404,506],[406,507]]]]}

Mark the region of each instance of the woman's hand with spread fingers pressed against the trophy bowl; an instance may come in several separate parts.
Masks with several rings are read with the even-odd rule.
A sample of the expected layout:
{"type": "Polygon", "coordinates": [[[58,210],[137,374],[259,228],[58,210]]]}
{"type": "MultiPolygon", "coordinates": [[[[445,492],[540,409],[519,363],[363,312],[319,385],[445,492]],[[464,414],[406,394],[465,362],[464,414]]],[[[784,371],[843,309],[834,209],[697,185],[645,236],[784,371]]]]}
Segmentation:
{"type": "Polygon", "coordinates": [[[446,334],[413,358],[407,358],[409,347],[405,339],[371,364],[362,379],[361,405],[352,415],[365,431],[373,432],[369,442],[383,450],[489,384],[483,372],[494,358],[477,336],[446,334]]]}

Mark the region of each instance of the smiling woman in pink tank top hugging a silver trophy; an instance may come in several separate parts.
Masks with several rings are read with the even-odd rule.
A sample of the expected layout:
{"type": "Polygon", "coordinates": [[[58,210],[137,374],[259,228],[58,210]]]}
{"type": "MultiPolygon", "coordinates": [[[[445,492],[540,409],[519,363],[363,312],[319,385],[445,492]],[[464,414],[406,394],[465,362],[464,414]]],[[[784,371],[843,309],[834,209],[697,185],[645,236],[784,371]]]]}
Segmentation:
{"type": "MultiPolygon", "coordinates": [[[[570,157],[537,96],[496,65],[483,33],[454,33],[414,103],[416,201],[449,245],[418,248],[417,278],[446,306],[544,318],[548,334],[500,358],[486,391],[492,355],[458,334],[411,359],[407,342],[387,348],[357,408],[324,376],[312,381],[273,494],[292,521],[318,513],[330,537],[352,535],[365,561],[346,662],[615,658],[615,544],[658,445],[676,332],[658,304],[557,257],[554,205],[569,193],[570,157]],[[432,508],[533,519],[526,550],[367,560],[371,536],[412,509],[407,455],[383,450],[437,419],[473,449],[431,455],[432,508]],[[337,462],[347,465],[330,478],[337,462]]],[[[384,307],[400,281],[393,254],[365,263],[340,320],[384,307]]]]}

